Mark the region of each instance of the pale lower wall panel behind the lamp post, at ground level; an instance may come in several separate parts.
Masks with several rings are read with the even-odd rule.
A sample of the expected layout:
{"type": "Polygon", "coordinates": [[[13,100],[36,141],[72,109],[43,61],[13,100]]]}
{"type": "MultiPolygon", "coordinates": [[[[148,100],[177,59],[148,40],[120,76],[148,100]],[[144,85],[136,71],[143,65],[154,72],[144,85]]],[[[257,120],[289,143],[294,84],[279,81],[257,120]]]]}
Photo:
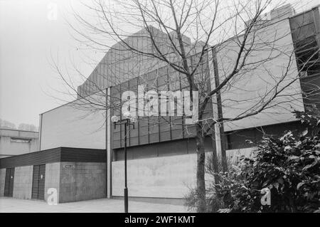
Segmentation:
{"type": "MultiPolygon", "coordinates": [[[[129,196],[183,198],[196,184],[196,154],[127,161],[129,196]]],[[[112,162],[112,196],[123,196],[124,161],[112,162]]]]}

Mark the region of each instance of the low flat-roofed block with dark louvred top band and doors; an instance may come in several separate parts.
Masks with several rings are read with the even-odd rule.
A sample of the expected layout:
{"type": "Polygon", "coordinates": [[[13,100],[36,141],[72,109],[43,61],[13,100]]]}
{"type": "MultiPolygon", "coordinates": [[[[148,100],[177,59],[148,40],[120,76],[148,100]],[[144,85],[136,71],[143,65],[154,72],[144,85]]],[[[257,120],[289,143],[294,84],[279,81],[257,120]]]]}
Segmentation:
{"type": "Polygon", "coordinates": [[[58,147],[0,159],[0,194],[58,203],[106,196],[105,150],[58,147]]]}

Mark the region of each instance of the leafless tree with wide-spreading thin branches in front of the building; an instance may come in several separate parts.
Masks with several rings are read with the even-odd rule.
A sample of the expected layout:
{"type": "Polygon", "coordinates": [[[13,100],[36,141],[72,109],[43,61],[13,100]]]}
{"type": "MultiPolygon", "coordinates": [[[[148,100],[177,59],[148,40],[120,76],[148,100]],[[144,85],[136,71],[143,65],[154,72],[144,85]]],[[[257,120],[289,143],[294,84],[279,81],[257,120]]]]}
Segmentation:
{"type": "MultiPolygon", "coordinates": [[[[291,31],[281,22],[287,12],[280,12],[272,20],[265,15],[270,6],[282,4],[273,4],[272,0],[95,0],[83,4],[92,11],[90,17],[73,12],[81,27],[72,23],[70,26],[81,45],[113,53],[113,58],[102,59],[99,66],[109,67],[110,73],[100,75],[97,70],[96,75],[86,78],[77,71],[84,81],[79,90],[68,74],[57,64],[54,67],[71,93],[82,100],[75,107],[93,112],[121,107],[121,97],[108,95],[105,88],[137,76],[143,81],[147,72],[164,65],[188,85],[191,102],[193,92],[198,92],[198,121],[194,122],[196,179],[198,211],[203,212],[204,138],[214,138],[213,127],[217,125],[215,128],[223,133],[223,125],[241,125],[240,120],[253,119],[262,112],[282,114],[289,108],[288,103],[292,107],[303,105],[301,89],[296,86],[301,70],[295,67],[294,48],[289,42],[291,31]],[[117,44],[111,46],[112,42],[117,44]],[[274,60],[279,64],[273,65],[274,60]],[[125,67],[117,67],[118,63],[125,67]],[[254,80],[260,86],[251,83],[254,80]],[[93,92],[96,95],[90,95],[93,92]],[[115,101],[107,102],[105,97],[115,101]],[[208,105],[216,107],[214,116],[206,115],[208,105]]],[[[225,152],[220,156],[222,170],[226,171],[225,152]]]]}

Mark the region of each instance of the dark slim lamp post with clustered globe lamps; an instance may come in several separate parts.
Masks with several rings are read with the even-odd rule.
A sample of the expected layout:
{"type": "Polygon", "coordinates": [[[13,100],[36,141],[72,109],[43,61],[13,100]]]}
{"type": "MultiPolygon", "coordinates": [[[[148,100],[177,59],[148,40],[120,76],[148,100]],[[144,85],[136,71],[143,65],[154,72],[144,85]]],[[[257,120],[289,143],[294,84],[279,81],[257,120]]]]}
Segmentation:
{"type": "Polygon", "coordinates": [[[112,116],[111,121],[116,125],[124,125],[124,213],[128,213],[128,187],[127,187],[127,126],[133,125],[135,118],[130,112],[124,112],[123,119],[120,120],[117,116],[112,116]]]}

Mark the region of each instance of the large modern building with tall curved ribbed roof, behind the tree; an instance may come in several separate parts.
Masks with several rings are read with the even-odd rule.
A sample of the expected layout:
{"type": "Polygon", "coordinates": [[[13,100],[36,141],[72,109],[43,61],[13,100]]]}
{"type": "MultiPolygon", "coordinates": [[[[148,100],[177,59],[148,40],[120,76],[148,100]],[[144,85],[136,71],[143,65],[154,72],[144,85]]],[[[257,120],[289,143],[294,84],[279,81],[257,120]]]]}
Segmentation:
{"type": "MultiPolygon", "coordinates": [[[[294,14],[294,10],[287,6],[275,9],[267,15],[265,28],[260,31],[259,37],[264,43],[271,38],[276,40],[273,43],[272,57],[264,65],[243,73],[241,80],[230,82],[228,89],[220,94],[223,104],[222,114],[224,117],[233,118],[244,115],[245,110],[255,110],[255,103],[261,93],[272,84],[272,81],[281,80],[283,69],[290,63],[287,67],[286,80],[281,80],[279,85],[279,89],[285,87],[285,91],[277,97],[277,105],[270,104],[267,111],[223,125],[223,141],[225,141],[223,146],[227,150],[228,157],[236,158],[238,154],[250,153],[254,147],[246,140],[255,143],[263,134],[277,136],[284,130],[299,131],[302,126],[292,111],[304,111],[308,105],[319,105],[319,18],[319,6],[302,14],[294,14]],[[293,55],[284,54],[281,58],[277,58],[278,53],[293,53],[293,55]],[[298,74],[301,78],[293,80],[298,74]]],[[[150,29],[162,38],[159,40],[162,42],[165,40],[165,35],[156,28],[150,29]]],[[[144,33],[145,30],[139,31],[126,40],[135,43],[134,45],[139,48],[151,50],[151,42],[144,33]]],[[[191,43],[190,38],[183,37],[183,39],[189,43],[191,49],[197,50],[198,47],[195,48],[196,44],[191,43]]],[[[100,196],[107,198],[123,196],[124,128],[119,125],[114,127],[111,122],[112,115],[121,116],[121,106],[117,103],[119,104],[122,93],[128,90],[138,93],[138,85],[145,85],[146,90],[184,91],[188,90],[188,83],[183,75],[176,73],[168,65],[145,56],[134,56],[122,48],[122,44],[117,43],[106,53],[85,83],[79,86],[78,100],[40,115],[40,151],[28,154],[39,158],[32,162],[21,161],[26,159],[23,156],[1,159],[1,182],[6,181],[6,175],[8,177],[12,175],[13,168],[28,169],[23,170],[24,173],[28,172],[28,184],[21,190],[28,190],[25,197],[32,198],[33,184],[36,183],[32,183],[31,170],[33,176],[37,177],[42,168],[46,169],[46,181],[43,183],[45,190],[44,192],[41,190],[41,196],[43,193],[46,194],[48,188],[46,185],[53,181],[55,182],[53,187],[59,189],[59,202],[95,199],[100,196]],[[95,103],[91,102],[93,100],[95,103]],[[78,150],[85,157],[77,159],[78,150]],[[57,151],[58,154],[55,153],[57,151]],[[97,153],[104,155],[100,157],[97,153]],[[56,157],[52,159],[51,157],[55,155],[56,157]],[[97,159],[92,161],[90,157],[97,159]],[[89,173],[90,176],[85,174],[87,171],[80,171],[87,168],[84,166],[89,162],[96,169],[89,173]],[[52,163],[55,163],[54,171],[52,163]],[[45,166],[38,167],[43,164],[45,166]],[[97,174],[101,171],[104,171],[104,174],[97,174]],[[102,182],[99,189],[94,182],[82,183],[87,176],[96,177],[96,175],[102,182]],[[81,186],[88,187],[88,191],[80,191],[78,197],[64,199],[65,195],[68,197],[70,191],[76,191],[75,189],[81,186]],[[95,193],[91,193],[90,190],[95,193]],[[88,196],[82,196],[82,192],[88,196]]],[[[235,58],[233,53],[237,48],[235,38],[230,38],[208,49],[201,70],[195,75],[208,82],[203,89],[215,88],[215,79],[224,78],[230,70],[230,63],[235,58]],[[201,78],[201,75],[205,76],[201,78]]],[[[257,60],[267,55],[270,53],[263,48],[257,48],[256,55],[250,60],[257,60]]],[[[191,63],[197,57],[197,53],[191,54],[191,63]]],[[[215,100],[210,102],[203,119],[212,120],[217,117],[218,107],[215,103],[215,100]]],[[[181,204],[183,197],[188,194],[189,187],[195,185],[196,132],[194,125],[185,124],[186,118],[188,117],[184,115],[139,117],[135,127],[130,128],[127,149],[129,199],[181,204]]],[[[219,127],[208,130],[205,139],[205,149],[208,154],[213,149],[218,152],[221,149],[219,134],[219,127]]],[[[9,188],[13,188],[10,195],[15,196],[16,185],[21,181],[22,179],[17,179],[15,176],[14,182],[1,183],[1,187],[4,188],[1,190],[8,191],[9,188]]],[[[1,190],[0,195],[2,195],[1,190]]]]}

